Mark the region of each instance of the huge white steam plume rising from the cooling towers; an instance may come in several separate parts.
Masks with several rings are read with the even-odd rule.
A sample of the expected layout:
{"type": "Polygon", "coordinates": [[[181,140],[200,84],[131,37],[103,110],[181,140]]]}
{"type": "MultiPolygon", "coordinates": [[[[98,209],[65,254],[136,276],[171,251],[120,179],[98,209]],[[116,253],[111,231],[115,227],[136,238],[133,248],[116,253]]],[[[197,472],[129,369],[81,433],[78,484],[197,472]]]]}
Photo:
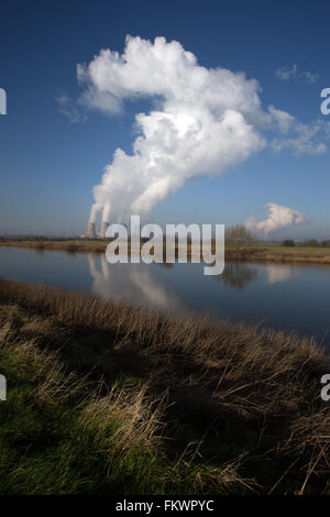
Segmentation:
{"type": "Polygon", "coordinates": [[[135,117],[133,154],[117,148],[94,187],[90,222],[146,215],[199,174],[223,170],[264,146],[252,120],[262,117],[258,84],[243,73],[199,66],[178,42],[127,37],[124,53],[103,50],[78,65],[84,101],[111,113],[125,99],[154,98],[157,108],[135,117]]]}

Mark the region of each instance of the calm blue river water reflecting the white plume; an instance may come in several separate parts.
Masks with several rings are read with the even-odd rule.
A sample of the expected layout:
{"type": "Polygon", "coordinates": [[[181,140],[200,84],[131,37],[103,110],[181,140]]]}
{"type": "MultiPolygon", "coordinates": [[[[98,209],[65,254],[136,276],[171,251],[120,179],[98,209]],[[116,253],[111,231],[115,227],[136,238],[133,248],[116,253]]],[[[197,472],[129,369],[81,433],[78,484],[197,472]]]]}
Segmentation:
{"type": "Polygon", "coordinates": [[[77,288],[175,314],[264,323],[314,334],[330,349],[330,267],[228,263],[219,276],[202,264],[109,265],[105,255],[0,248],[0,276],[77,288]],[[329,332],[328,332],[329,331],[329,332]]]}

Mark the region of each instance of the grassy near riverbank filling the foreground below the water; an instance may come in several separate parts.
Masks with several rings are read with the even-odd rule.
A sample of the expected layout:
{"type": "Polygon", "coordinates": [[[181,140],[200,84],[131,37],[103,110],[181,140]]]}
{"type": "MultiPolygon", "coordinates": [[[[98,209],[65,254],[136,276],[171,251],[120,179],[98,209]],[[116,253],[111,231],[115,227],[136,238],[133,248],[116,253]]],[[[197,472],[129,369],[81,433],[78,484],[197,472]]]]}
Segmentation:
{"type": "Polygon", "coordinates": [[[329,494],[311,340],[0,280],[2,494],[329,494]]]}

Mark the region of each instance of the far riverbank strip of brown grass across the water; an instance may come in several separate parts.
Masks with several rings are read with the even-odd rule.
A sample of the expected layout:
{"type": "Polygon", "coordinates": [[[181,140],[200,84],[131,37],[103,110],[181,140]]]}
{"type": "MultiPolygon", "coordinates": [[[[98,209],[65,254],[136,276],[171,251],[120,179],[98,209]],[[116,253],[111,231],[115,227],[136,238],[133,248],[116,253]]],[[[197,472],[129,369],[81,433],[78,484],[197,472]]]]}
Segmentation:
{"type": "MultiPolygon", "coordinates": [[[[0,240],[0,246],[28,248],[32,250],[57,250],[68,253],[105,253],[108,241],[100,239],[69,240],[0,240]]],[[[190,246],[188,244],[188,258],[190,246]]],[[[330,248],[232,245],[226,246],[226,258],[232,261],[282,263],[282,264],[329,264],[330,248]]]]}

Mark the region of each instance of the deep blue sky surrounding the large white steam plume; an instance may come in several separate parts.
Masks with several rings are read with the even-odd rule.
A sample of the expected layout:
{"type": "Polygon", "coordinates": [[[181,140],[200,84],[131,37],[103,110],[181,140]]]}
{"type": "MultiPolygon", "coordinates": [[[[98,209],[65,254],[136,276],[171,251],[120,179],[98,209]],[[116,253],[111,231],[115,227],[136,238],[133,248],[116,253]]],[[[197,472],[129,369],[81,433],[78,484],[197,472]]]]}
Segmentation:
{"type": "MultiPolygon", "coordinates": [[[[74,103],[81,92],[78,63],[90,63],[101,48],[122,53],[127,34],[164,36],[207,68],[257,79],[265,110],[273,105],[306,125],[328,122],[320,91],[330,87],[329,14],[326,1],[7,2],[0,32],[0,87],[8,95],[8,114],[0,116],[0,233],[81,233],[103,167],[117,147],[131,152],[134,116],[148,102],[125,102],[113,116],[72,105],[76,123],[61,113],[56,99],[65,95],[74,103]],[[276,76],[283,69],[292,70],[286,80],[276,76]]],[[[233,224],[265,219],[265,205],[274,202],[300,211],[307,222],[272,237],[330,239],[329,190],[329,151],[296,156],[268,145],[219,177],[187,180],[155,206],[153,219],[233,224]]]]}

